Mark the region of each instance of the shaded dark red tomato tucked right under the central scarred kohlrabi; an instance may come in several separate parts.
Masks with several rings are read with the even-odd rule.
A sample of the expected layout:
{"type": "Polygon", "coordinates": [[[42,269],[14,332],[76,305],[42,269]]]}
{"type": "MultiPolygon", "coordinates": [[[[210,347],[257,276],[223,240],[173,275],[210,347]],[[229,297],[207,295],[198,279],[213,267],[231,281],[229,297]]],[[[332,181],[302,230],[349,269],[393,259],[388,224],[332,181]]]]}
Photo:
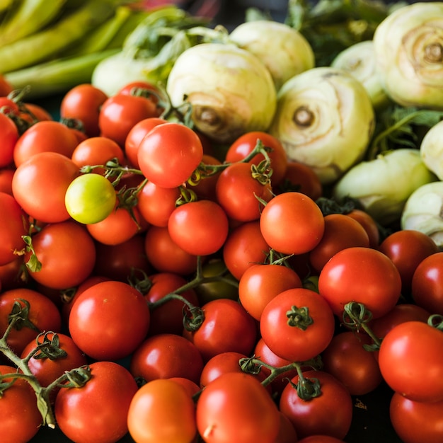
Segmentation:
{"type": "Polygon", "coordinates": [[[323,185],[313,169],[299,161],[288,161],[283,180],[274,187],[277,194],[297,191],[317,200],[323,195],[323,185]]]}

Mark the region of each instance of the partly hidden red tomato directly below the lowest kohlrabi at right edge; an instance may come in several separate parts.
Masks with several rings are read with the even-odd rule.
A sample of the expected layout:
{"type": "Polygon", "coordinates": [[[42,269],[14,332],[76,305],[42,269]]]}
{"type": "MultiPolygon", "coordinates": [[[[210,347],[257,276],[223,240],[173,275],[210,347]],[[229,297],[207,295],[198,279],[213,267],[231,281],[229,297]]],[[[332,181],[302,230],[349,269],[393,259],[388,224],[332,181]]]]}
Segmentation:
{"type": "Polygon", "coordinates": [[[396,231],[387,236],[379,246],[396,265],[401,276],[403,294],[410,293],[413,274],[420,262],[439,252],[437,243],[423,232],[413,229],[396,231]]]}

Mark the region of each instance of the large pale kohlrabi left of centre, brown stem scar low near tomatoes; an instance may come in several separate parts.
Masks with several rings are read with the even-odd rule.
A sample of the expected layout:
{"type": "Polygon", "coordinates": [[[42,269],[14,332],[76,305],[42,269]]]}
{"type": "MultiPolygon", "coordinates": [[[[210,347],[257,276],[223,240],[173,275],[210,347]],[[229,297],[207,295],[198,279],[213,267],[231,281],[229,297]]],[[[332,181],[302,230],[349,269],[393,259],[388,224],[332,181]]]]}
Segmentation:
{"type": "Polygon", "coordinates": [[[192,106],[192,121],[215,142],[266,131],[277,94],[272,76],[252,52],[234,44],[202,43],[180,54],[166,83],[175,107],[192,106]]]}

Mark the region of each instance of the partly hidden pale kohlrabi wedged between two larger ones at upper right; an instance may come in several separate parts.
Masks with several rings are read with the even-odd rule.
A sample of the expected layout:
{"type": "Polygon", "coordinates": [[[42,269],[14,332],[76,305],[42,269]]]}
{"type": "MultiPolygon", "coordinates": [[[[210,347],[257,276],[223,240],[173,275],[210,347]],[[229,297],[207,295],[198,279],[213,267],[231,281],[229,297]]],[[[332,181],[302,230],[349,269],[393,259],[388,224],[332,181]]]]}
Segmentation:
{"type": "Polygon", "coordinates": [[[330,64],[331,67],[345,69],[362,82],[376,109],[389,104],[389,98],[381,85],[378,72],[376,72],[374,42],[365,40],[347,47],[340,52],[330,64]]]}

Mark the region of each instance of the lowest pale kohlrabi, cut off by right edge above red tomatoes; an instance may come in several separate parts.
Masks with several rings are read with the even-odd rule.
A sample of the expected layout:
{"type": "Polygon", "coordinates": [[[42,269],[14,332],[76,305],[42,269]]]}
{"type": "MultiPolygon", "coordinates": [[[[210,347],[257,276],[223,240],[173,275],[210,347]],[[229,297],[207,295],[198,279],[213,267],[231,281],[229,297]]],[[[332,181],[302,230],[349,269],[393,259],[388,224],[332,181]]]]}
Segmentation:
{"type": "Polygon", "coordinates": [[[426,183],[406,201],[401,214],[401,229],[415,229],[443,248],[443,182],[426,183]]]}

